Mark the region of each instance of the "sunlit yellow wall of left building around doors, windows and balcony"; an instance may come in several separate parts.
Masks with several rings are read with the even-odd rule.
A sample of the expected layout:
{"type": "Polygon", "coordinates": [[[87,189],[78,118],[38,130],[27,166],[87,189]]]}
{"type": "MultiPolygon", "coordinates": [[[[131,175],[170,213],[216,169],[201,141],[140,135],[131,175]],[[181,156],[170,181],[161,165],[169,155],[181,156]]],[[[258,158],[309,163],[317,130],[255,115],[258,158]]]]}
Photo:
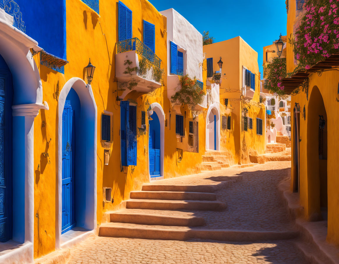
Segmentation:
{"type": "MultiPolygon", "coordinates": [[[[115,54],[117,31],[117,2],[100,1],[100,17],[86,4],[79,0],[66,1],[66,37],[67,60],[65,74],[58,73],[40,65],[39,55],[34,59],[39,67],[43,86],[43,100],[48,102],[49,110],[41,110],[34,122],[34,257],[43,256],[55,249],[56,221],[58,217],[58,92],[65,82],[72,77],[85,80],[84,67],[88,59],[96,66],[92,89],[97,105],[97,224],[100,225],[103,213],[119,208],[121,201],[129,198],[132,190],[140,190],[148,175],[148,133],[137,138],[137,166],[120,167],[120,102],[116,100],[117,79],[115,77],[115,54]],[[104,147],[101,142],[101,115],[103,111],[113,112],[113,143],[109,147],[109,164],[104,165],[104,147]],[[50,140],[51,139],[51,140],[50,140]],[[48,153],[44,157],[42,153],[48,153]],[[39,167],[38,167],[39,166],[39,167]],[[113,203],[103,203],[103,187],[112,188],[113,203]]],[[[152,93],[125,97],[137,101],[137,127],[141,127],[141,111],[147,111],[150,103],[158,102],[163,108],[167,127],[165,127],[164,177],[175,177],[199,171],[197,166],[205,151],[206,114],[196,117],[199,121],[199,153],[184,151],[181,163],[177,163],[175,134],[175,112],[170,118],[170,102],[166,94],[167,47],[166,17],[162,16],[147,0],[124,0],[123,3],[133,12],[133,37],[143,40],[143,19],[155,24],[155,54],[162,59],[164,86],[152,93]],[[171,120],[169,120],[171,119],[171,120]],[[171,128],[169,127],[171,123],[171,128]]],[[[204,88],[206,89],[206,88],[204,88]]],[[[186,135],[192,113],[186,111],[186,135]]],[[[147,118],[147,117],[146,117],[147,118]]],[[[148,122],[146,122],[148,131],[148,122]]]]}

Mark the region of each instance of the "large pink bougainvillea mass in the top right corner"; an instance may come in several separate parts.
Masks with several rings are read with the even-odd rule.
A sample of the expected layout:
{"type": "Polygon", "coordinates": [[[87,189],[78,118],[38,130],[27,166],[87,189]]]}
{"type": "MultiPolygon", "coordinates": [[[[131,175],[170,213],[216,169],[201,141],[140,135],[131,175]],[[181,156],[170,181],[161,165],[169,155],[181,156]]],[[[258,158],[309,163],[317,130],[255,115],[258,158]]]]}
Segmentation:
{"type": "Polygon", "coordinates": [[[339,52],[339,0],[306,0],[305,14],[295,33],[294,55],[299,69],[339,52]],[[311,63],[312,62],[312,63],[311,63]]]}

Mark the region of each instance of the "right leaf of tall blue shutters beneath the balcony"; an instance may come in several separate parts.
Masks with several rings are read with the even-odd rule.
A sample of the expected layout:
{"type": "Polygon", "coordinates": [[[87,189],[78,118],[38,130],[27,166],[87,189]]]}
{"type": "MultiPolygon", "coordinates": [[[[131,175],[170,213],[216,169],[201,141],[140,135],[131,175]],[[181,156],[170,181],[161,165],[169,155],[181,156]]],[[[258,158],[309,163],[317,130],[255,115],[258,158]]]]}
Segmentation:
{"type": "Polygon", "coordinates": [[[137,165],[137,107],[129,106],[127,122],[127,166],[137,165]]]}

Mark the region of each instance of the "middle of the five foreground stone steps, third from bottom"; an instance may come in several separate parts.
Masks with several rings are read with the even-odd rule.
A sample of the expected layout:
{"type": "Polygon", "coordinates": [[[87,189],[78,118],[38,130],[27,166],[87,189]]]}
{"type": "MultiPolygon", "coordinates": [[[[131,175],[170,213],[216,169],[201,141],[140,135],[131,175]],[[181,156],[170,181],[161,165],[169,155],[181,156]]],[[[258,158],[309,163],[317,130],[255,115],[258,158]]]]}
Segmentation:
{"type": "Polygon", "coordinates": [[[173,201],[173,200],[142,200],[130,199],[126,201],[127,209],[152,210],[224,210],[226,205],[217,201],[173,201]]]}

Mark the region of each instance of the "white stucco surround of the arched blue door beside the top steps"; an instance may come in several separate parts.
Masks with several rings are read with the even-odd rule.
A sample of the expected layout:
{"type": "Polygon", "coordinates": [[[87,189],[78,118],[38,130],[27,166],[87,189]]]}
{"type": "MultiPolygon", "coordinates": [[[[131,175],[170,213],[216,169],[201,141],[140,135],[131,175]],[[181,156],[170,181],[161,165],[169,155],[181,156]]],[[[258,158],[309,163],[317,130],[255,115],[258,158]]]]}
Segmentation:
{"type": "MultiPolygon", "coordinates": [[[[160,122],[160,177],[151,178],[151,174],[149,173],[149,144],[147,141],[147,148],[148,148],[148,177],[149,181],[155,180],[162,180],[164,178],[164,148],[165,148],[165,113],[162,109],[160,103],[152,103],[151,107],[153,112],[158,115],[159,122],[160,122]]],[[[148,127],[148,138],[149,138],[149,127],[148,127]]]]}

